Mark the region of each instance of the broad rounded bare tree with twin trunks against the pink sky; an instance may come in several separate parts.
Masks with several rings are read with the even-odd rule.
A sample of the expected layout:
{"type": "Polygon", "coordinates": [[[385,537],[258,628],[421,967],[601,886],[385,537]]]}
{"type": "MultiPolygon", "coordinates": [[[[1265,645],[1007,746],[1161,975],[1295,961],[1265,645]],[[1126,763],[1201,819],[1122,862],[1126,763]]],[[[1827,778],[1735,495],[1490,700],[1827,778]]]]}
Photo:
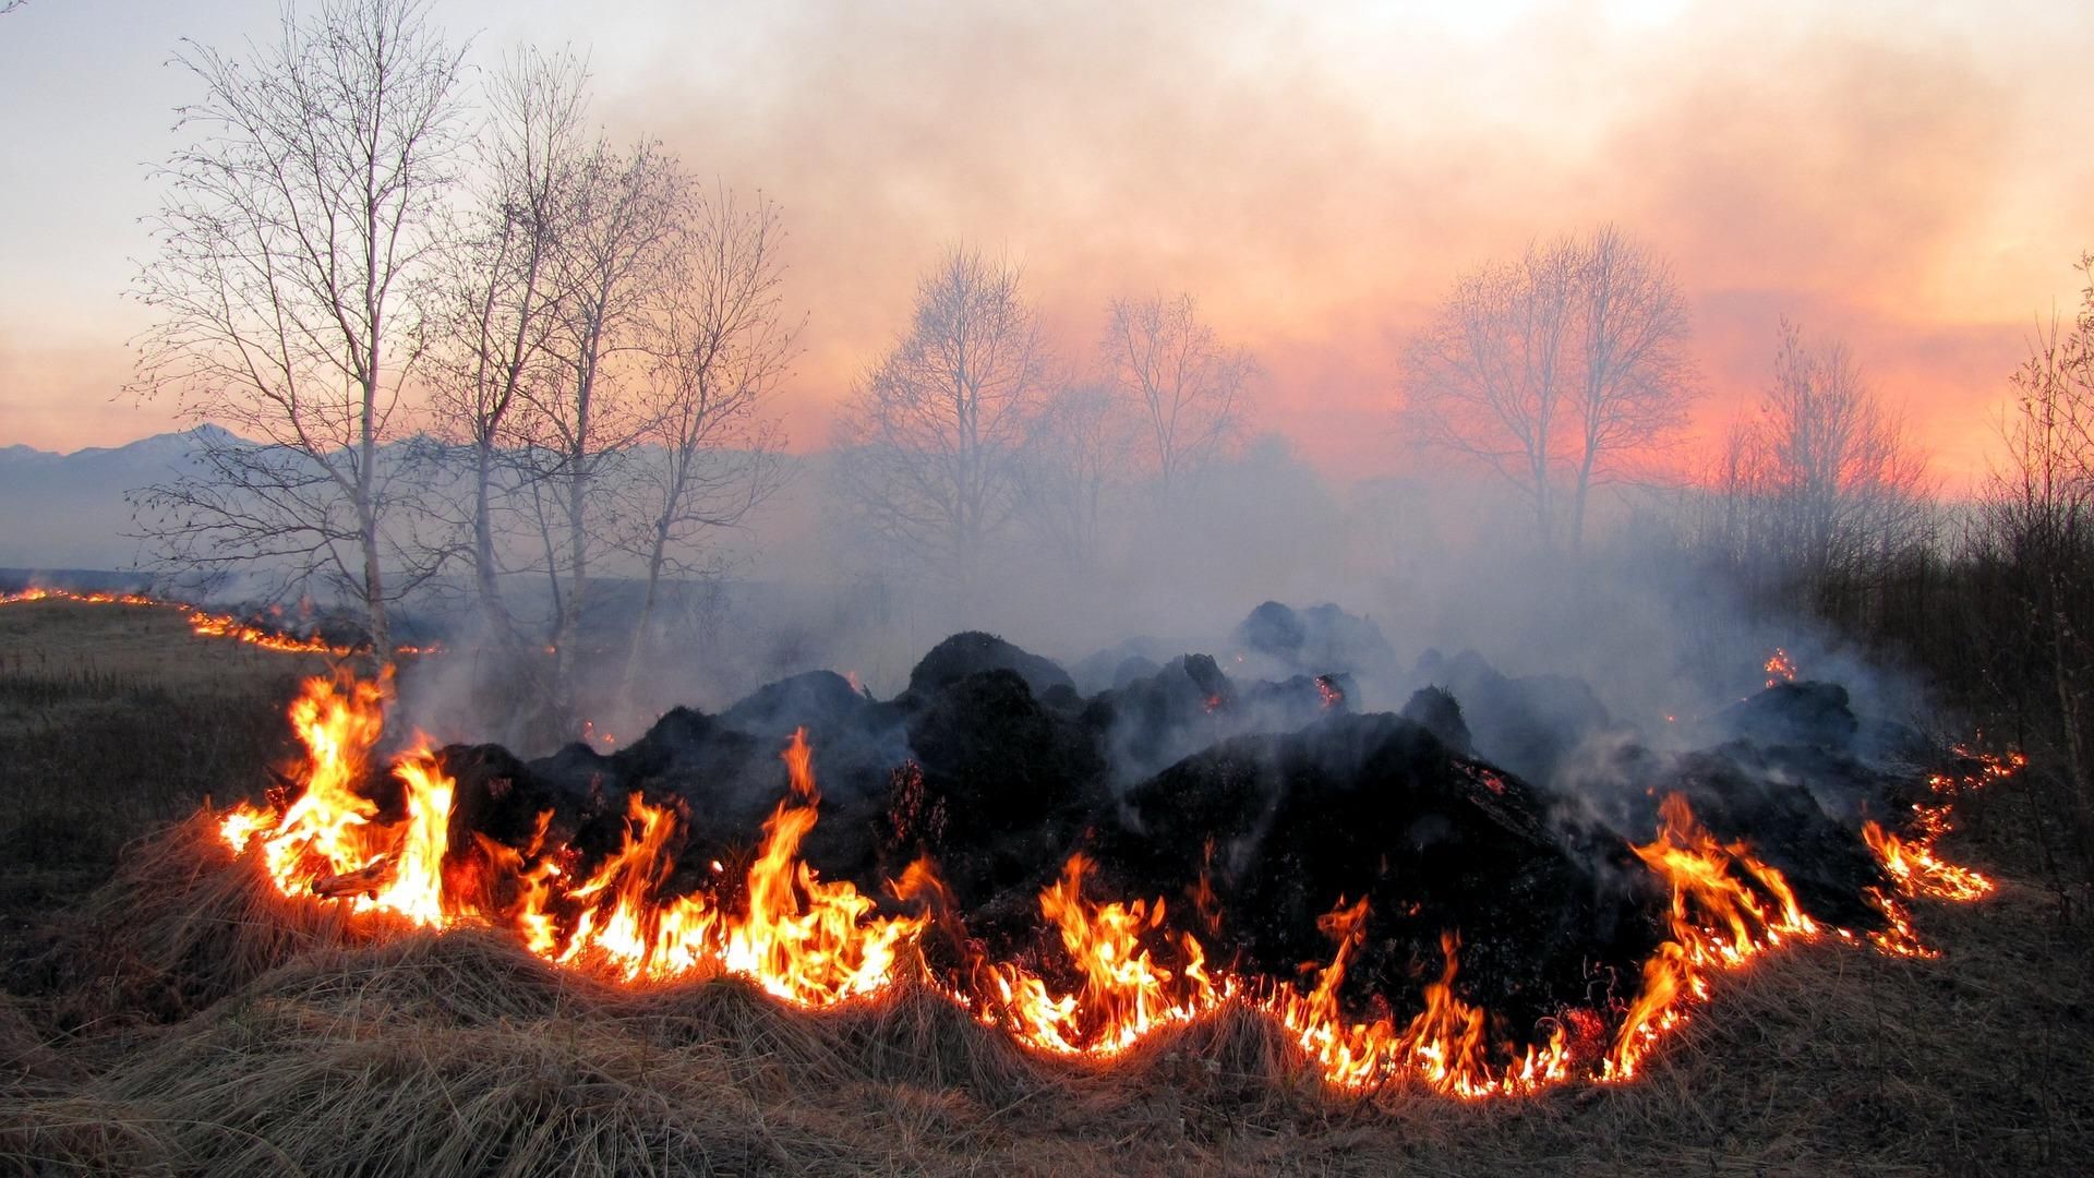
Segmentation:
{"type": "Polygon", "coordinates": [[[1686,419],[1686,340],[1671,270],[1614,226],[1531,243],[1516,262],[1462,275],[1411,337],[1403,417],[1422,442],[1512,482],[1543,547],[1568,511],[1577,549],[1591,486],[1686,419]]]}

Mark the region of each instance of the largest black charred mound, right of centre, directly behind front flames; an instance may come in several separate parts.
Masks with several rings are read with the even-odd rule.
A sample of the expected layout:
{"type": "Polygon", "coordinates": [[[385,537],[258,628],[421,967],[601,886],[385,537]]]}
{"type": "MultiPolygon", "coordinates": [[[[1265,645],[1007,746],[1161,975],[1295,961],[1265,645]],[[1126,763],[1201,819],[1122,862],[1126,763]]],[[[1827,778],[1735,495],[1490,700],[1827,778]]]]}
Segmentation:
{"type": "Polygon", "coordinates": [[[1558,834],[1527,782],[1393,715],[1187,757],[1129,790],[1087,851],[1110,891],[1196,910],[1240,968],[1275,979],[1330,960],[1317,920],[1365,897],[1357,1002],[1413,998],[1457,931],[1457,989],[1531,1025],[1589,998],[1594,960],[1633,973],[1658,939],[1642,872],[1610,870],[1627,864],[1558,834]]]}

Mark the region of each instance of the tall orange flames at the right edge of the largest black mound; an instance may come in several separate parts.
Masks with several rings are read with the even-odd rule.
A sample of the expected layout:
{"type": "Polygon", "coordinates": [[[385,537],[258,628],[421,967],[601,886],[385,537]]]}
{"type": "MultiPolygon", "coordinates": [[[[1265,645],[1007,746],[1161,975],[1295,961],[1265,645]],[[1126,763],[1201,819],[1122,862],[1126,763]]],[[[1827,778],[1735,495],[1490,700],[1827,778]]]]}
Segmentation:
{"type": "Polygon", "coordinates": [[[1818,935],[1782,872],[1744,843],[1717,843],[1681,794],[1658,803],[1658,836],[1631,849],[1671,885],[1673,939],[1644,962],[1644,989],[1614,1035],[1606,1079],[1635,1075],[1650,1046],[1686,1021],[1686,1002],[1709,998],[1715,970],[1742,966],[1784,937],[1818,935]]]}

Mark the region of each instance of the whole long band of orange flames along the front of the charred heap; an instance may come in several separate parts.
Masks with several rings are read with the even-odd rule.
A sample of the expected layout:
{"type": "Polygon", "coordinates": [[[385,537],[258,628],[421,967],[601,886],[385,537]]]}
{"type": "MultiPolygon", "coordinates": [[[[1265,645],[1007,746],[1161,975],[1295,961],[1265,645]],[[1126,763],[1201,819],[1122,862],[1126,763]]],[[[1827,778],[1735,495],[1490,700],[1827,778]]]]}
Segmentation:
{"type": "MultiPolygon", "coordinates": [[[[986,960],[959,929],[928,861],[888,885],[911,908],[903,914],[884,912],[846,880],[819,878],[800,855],[821,803],[804,729],[781,752],[787,790],[764,822],[741,889],[720,887],[735,880],[712,861],[699,891],[668,895],[687,817],[681,801],[634,792],[620,847],[588,870],[551,836],[551,811],[538,815],[524,847],[477,834],[454,843],[456,782],[425,742],[389,761],[400,801],[381,809],[362,786],[377,765],[389,700],[389,673],[377,681],[308,681],[291,704],[306,746],[302,788],[222,815],[224,843],[255,855],[283,895],[331,899],[373,920],[421,929],[505,929],[547,962],[620,983],[731,973],[808,1008],[923,979],[982,1023],[1060,1056],[1110,1059],[1162,1027],[1240,1002],[1284,1027],[1338,1088],[1411,1082],[1483,1098],[1537,1092],[1573,1075],[1617,1082],[1633,1077],[1654,1044],[1688,1019],[1688,1006],[1709,996],[1715,973],[1820,933],[1782,872],[1742,841],[1717,841],[1673,794],[1658,809],[1656,838],[1631,847],[1671,887],[1671,937],[1644,964],[1640,994],[1625,1004],[1610,1044],[1602,1012],[1591,1008],[1562,1010],[1520,1035],[1464,1000],[1455,929],[1441,935],[1441,966],[1422,985],[1422,1010],[1407,1021],[1386,1010],[1349,1015],[1340,989],[1367,943],[1365,899],[1340,899],[1319,920],[1332,956],[1315,968],[1313,985],[1248,979],[1227,962],[1217,966],[1194,933],[1177,929],[1162,897],[1085,895],[1097,868],[1081,853],[1039,895],[1062,960],[1034,968],[986,960]],[[963,945],[967,960],[949,975],[957,981],[928,977],[921,943],[932,926],[957,933],[963,945]],[[1583,1046],[1573,1046],[1568,1027],[1579,1027],[1575,1040],[1583,1046]]],[[[1947,786],[1937,784],[1937,792],[1947,786]]],[[[1947,803],[1939,811],[1945,828],[1947,803]]],[[[1933,857],[1931,834],[1899,838],[1870,824],[1864,836],[1899,891],[1954,899],[1989,891],[1977,872],[1933,857]]],[[[1885,929],[1870,935],[1878,950],[1929,954],[1897,899],[1876,889],[1870,901],[1885,916],[1885,929]]],[[[1219,914],[1202,918],[1204,929],[1219,926],[1219,914]]]]}

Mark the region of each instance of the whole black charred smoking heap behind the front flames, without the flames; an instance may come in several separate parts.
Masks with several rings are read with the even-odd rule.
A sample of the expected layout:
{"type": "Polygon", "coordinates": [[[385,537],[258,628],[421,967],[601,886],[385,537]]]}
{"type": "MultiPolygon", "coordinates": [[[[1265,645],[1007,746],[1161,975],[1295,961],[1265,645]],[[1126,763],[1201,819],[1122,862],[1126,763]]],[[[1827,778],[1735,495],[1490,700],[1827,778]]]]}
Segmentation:
{"type": "MultiPolygon", "coordinates": [[[[1857,721],[1841,688],[1772,688],[1711,719],[1713,742],[1692,752],[1648,748],[1577,679],[1512,679],[1474,654],[1395,677],[1399,690],[1439,683],[1403,715],[1359,715],[1355,675],[1386,675],[1386,660],[1315,671],[1300,662],[1319,650],[1313,635],[1344,627],[1282,610],[1261,606],[1240,629],[1263,658],[1300,669],[1277,679],[1177,654],[1078,696],[1053,662],[963,633],[894,700],[819,671],[720,715],[674,708],[609,755],[574,744],[524,763],[452,746],[452,859],[528,857],[551,813],[544,845],[574,847],[570,868],[588,870],[626,838],[639,792],[687,817],[662,893],[733,901],[787,792],[779,750],[804,727],[821,790],[802,845],[815,870],[903,903],[886,880],[928,857],[951,889],[934,945],[963,937],[1049,977],[1066,962],[1039,893],[1083,853],[1087,899],[1164,901],[1162,960],[1181,956],[1164,935],[1181,931],[1210,966],[1313,985],[1336,950],[1319,918],[1365,899],[1340,991],[1351,1008],[1416,1010],[1453,931],[1455,991],[1533,1038],[1566,1008],[1633,996],[1669,893],[1629,847],[1652,838],[1669,792],[1719,841],[1748,841],[1815,918],[1878,924],[1864,889],[1885,880],[1857,830],[1910,811],[1924,776],[1880,755],[1899,738],[1857,721]]],[[[934,968],[965,958],[930,956],[934,968]]]]}

